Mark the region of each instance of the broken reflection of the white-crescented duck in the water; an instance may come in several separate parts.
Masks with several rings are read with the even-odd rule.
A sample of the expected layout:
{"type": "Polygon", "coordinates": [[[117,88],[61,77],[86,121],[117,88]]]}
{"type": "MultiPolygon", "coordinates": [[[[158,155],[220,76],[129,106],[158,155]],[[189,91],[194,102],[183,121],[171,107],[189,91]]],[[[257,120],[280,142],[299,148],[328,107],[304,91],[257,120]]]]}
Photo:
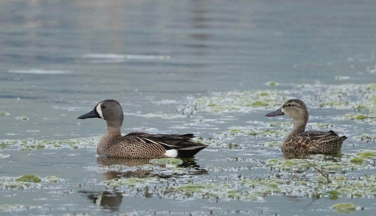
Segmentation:
{"type": "MultiPolygon", "coordinates": [[[[205,169],[200,168],[200,166],[196,163],[194,158],[180,158],[182,159],[183,163],[176,165],[176,167],[188,168],[189,175],[206,175],[208,171],[205,169]]],[[[171,177],[179,177],[184,176],[187,173],[173,173],[173,172],[166,172],[163,173],[159,169],[143,169],[143,165],[150,164],[150,158],[118,158],[118,157],[106,157],[106,156],[98,156],[97,163],[100,167],[108,167],[112,165],[122,165],[125,167],[119,167],[118,170],[115,171],[107,171],[103,173],[106,180],[111,180],[115,178],[129,178],[129,177],[137,177],[137,178],[148,178],[148,177],[156,177],[156,178],[171,178],[171,177]],[[129,168],[129,169],[127,169],[129,168]]],[[[169,166],[175,166],[170,164],[160,164],[155,165],[159,166],[161,169],[168,170],[169,166]]],[[[94,204],[97,205],[99,208],[103,208],[106,210],[111,211],[118,211],[121,201],[123,200],[123,193],[119,190],[104,190],[104,191],[79,191],[79,194],[82,196],[86,196],[89,198],[94,204]]]]}

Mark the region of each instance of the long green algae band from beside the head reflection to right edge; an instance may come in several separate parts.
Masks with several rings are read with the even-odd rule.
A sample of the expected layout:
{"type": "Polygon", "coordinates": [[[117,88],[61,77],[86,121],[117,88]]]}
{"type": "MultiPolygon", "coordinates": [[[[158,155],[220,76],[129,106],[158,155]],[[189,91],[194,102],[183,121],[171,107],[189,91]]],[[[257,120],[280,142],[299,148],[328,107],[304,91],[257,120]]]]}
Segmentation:
{"type": "MultiPolygon", "coordinates": [[[[207,167],[211,169],[210,167],[207,167]]],[[[330,181],[321,173],[314,174],[310,181],[275,178],[240,179],[222,183],[192,182],[192,178],[122,178],[103,181],[108,187],[123,190],[129,194],[148,193],[149,197],[202,197],[228,198],[244,201],[260,201],[264,196],[294,195],[338,199],[345,197],[373,198],[376,193],[376,174],[361,178],[330,176],[330,181]],[[176,180],[179,184],[176,184],[176,180]]]]}

